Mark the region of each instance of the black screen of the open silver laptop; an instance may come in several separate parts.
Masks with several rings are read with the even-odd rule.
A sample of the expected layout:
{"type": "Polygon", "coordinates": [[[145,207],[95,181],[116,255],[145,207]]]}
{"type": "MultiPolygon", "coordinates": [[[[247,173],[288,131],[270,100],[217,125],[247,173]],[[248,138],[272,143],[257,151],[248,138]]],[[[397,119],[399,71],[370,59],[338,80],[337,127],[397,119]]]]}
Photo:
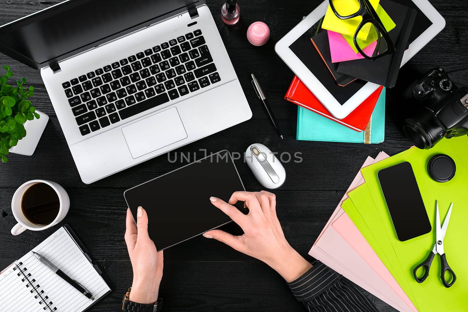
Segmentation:
{"type": "Polygon", "coordinates": [[[0,27],[0,52],[40,68],[51,60],[63,59],[148,26],[160,16],[197,2],[200,1],[64,1],[0,27]]]}

